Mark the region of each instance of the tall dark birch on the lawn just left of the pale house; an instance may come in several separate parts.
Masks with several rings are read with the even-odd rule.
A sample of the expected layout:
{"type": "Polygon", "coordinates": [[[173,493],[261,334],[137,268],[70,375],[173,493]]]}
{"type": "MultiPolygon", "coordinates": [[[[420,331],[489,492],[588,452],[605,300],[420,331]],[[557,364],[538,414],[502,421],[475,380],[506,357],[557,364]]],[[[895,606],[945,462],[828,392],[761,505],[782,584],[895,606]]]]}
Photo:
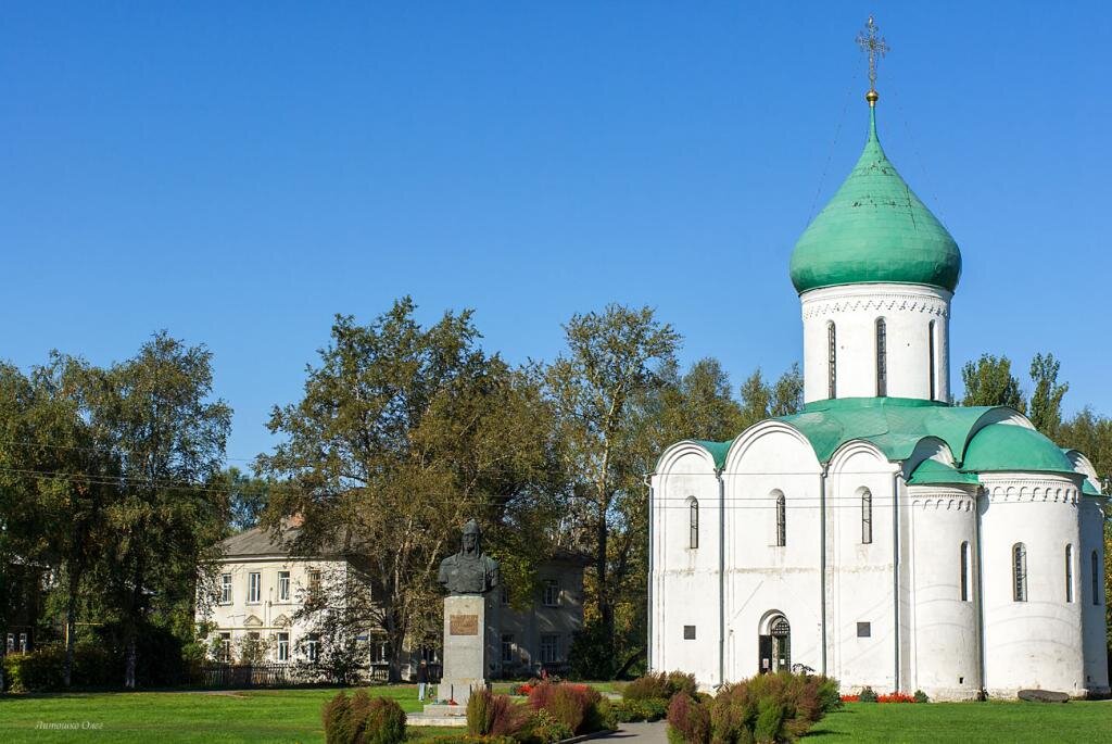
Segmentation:
{"type": "Polygon", "coordinates": [[[211,359],[203,346],[160,331],[133,358],[82,373],[95,436],[120,468],[100,579],[120,621],[128,688],[151,612],[192,624],[198,566],[211,566],[225,534],[227,502],[206,484],[219,473],[231,409],[209,400],[211,359]]]}

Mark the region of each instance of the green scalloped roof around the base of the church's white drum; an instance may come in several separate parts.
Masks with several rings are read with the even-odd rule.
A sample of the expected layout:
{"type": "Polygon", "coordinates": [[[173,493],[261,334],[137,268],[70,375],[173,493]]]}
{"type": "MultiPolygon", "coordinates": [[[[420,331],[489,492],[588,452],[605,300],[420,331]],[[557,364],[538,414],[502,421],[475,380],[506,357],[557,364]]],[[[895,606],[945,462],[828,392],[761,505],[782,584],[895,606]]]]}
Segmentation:
{"type": "MultiPolygon", "coordinates": [[[[890,460],[903,460],[924,437],[946,443],[960,457],[970,431],[993,406],[954,407],[917,398],[834,398],[816,400],[781,420],[800,429],[820,462],[851,439],[866,439],[890,460]]],[[[1011,413],[1010,409],[1004,409],[1011,413]]]]}

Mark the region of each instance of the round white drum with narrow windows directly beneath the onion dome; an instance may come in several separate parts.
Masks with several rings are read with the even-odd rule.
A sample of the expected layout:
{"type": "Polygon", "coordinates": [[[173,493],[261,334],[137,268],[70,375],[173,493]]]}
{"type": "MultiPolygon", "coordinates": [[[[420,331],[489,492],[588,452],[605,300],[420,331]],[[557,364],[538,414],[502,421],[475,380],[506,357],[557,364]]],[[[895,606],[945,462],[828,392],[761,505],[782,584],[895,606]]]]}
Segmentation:
{"type": "Polygon", "coordinates": [[[950,399],[950,300],[925,285],[850,285],[800,296],[803,311],[803,397],[828,390],[828,330],[835,326],[836,397],[873,397],[876,390],[876,320],[884,318],[890,397],[931,399],[931,323],[934,323],[934,400],[950,399]]]}

